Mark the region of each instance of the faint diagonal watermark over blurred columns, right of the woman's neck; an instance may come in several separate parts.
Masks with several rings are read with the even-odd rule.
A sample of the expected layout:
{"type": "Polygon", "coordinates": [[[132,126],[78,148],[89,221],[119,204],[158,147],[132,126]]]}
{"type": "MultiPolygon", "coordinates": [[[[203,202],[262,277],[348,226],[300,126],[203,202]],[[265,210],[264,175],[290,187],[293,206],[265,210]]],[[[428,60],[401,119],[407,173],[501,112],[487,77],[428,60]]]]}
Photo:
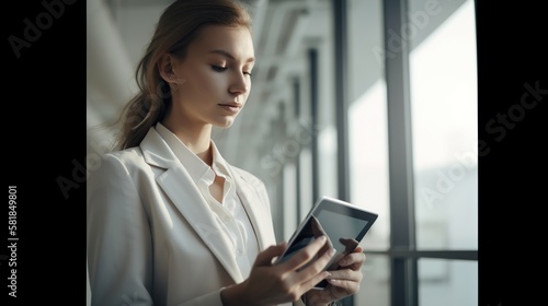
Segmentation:
{"type": "Polygon", "coordinates": [[[294,121],[289,126],[289,137],[283,142],[274,145],[272,151],[264,155],[260,163],[261,166],[275,177],[283,169],[284,165],[295,158],[302,146],[312,141],[312,136],[318,133],[317,127],[305,119],[294,121]]]}

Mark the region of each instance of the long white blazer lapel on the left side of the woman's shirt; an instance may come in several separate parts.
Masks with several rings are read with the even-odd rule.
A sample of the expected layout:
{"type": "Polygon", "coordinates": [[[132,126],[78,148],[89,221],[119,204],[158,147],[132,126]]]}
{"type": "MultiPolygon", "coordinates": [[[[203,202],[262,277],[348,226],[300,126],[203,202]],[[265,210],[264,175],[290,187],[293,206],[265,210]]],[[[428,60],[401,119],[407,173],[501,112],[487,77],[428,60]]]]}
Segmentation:
{"type": "Polygon", "coordinates": [[[147,163],[167,168],[163,174],[156,178],[158,185],[232,279],[237,283],[243,281],[236,261],[232,243],[217,224],[209,205],[202,197],[190,174],[153,128],[142,140],[141,149],[147,163]]]}

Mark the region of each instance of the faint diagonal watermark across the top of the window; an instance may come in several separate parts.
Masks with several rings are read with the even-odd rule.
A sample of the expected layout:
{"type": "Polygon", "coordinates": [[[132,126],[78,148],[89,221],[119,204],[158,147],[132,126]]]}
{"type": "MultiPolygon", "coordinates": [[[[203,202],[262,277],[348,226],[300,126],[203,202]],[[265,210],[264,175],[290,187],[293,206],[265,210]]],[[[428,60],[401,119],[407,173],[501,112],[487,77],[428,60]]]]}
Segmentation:
{"type": "Polygon", "coordinates": [[[430,22],[431,16],[435,16],[442,12],[439,2],[437,0],[426,0],[423,10],[416,12],[407,12],[408,22],[401,26],[399,33],[392,28],[388,28],[388,39],[386,48],[374,46],[372,51],[379,64],[385,62],[385,58],[395,58],[397,54],[403,50],[411,39],[416,36],[418,31],[424,30],[430,22]]]}

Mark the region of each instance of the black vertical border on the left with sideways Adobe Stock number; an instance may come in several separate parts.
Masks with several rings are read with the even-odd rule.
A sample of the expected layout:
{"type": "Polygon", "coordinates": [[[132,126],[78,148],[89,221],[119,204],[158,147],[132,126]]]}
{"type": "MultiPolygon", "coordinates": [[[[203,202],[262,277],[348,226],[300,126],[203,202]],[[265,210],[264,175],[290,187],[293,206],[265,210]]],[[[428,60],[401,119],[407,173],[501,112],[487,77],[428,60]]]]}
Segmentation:
{"type": "Polygon", "coordinates": [[[4,181],[18,189],[19,240],[18,297],[0,260],[0,304],[85,305],[85,1],[2,4],[4,181]]]}

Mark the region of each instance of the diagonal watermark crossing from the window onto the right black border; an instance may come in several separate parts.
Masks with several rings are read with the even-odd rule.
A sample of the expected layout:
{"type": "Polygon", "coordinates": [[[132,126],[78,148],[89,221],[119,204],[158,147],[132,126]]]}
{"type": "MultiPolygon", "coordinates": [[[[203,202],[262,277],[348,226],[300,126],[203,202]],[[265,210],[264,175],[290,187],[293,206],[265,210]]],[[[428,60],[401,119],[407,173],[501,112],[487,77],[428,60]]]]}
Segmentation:
{"type": "MultiPolygon", "coordinates": [[[[511,105],[505,113],[498,113],[494,118],[486,123],[486,131],[489,136],[493,136],[494,141],[501,142],[507,136],[509,130],[517,127],[526,118],[526,113],[533,110],[539,105],[544,97],[548,94],[546,90],[540,87],[540,81],[536,81],[533,85],[524,83],[525,89],[520,102],[511,105]]],[[[456,184],[465,179],[466,175],[476,168],[478,157],[484,157],[491,152],[489,142],[479,140],[478,145],[469,152],[455,153],[457,162],[452,164],[446,172],[436,172],[436,181],[434,188],[421,188],[420,196],[429,208],[433,208],[436,200],[443,199],[456,187],[456,184]]]]}

